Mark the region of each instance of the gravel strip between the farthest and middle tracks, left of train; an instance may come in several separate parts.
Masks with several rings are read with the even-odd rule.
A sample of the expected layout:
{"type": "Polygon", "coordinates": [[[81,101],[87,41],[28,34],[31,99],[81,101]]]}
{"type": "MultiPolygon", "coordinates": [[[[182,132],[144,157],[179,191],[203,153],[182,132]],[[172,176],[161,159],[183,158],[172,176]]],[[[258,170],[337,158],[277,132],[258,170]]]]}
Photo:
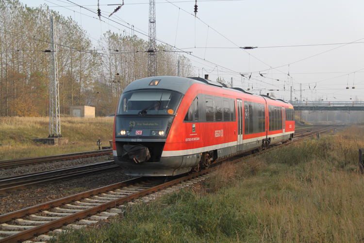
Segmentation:
{"type": "Polygon", "coordinates": [[[76,158],[70,160],[61,160],[61,161],[54,161],[48,162],[43,164],[37,165],[26,165],[20,166],[16,168],[10,169],[2,169],[0,170],[0,178],[12,176],[12,175],[19,175],[19,174],[28,174],[33,172],[42,172],[54,169],[62,169],[71,166],[80,166],[80,165],[87,165],[93,164],[97,162],[104,162],[107,160],[114,160],[112,156],[104,155],[104,156],[94,156],[94,157],[86,157],[86,158],[76,158]]]}

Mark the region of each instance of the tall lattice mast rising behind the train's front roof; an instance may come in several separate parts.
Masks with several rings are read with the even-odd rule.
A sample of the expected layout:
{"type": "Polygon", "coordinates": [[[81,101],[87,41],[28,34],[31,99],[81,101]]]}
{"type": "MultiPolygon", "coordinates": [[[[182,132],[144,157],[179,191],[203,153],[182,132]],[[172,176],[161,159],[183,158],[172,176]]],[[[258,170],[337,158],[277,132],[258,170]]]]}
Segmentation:
{"type": "Polygon", "coordinates": [[[148,77],[157,76],[157,44],[155,33],[155,0],[149,0],[148,77]]]}

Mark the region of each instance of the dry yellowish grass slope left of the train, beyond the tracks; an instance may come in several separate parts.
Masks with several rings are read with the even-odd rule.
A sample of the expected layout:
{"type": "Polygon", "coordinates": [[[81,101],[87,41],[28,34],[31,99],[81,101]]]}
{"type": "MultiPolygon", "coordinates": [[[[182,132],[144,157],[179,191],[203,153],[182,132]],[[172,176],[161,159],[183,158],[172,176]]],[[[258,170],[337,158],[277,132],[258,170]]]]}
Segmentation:
{"type": "Polygon", "coordinates": [[[61,135],[68,145],[53,146],[36,143],[35,138],[47,138],[49,118],[0,117],[0,160],[37,157],[97,150],[96,141],[109,146],[113,137],[111,118],[61,118],[61,135]]]}

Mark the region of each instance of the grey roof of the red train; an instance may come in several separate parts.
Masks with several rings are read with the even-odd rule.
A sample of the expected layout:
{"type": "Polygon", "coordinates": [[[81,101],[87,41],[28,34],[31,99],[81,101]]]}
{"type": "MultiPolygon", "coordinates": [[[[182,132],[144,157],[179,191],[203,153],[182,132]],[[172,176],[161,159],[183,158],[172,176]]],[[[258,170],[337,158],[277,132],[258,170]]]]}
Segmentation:
{"type": "MultiPolygon", "coordinates": [[[[210,86],[215,86],[215,87],[219,87],[219,88],[223,88],[223,89],[228,89],[228,90],[233,90],[236,92],[242,92],[248,95],[252,95],[252,96],[256,96],[256,97],[263,97],[263,98],[268,98],[271,100],[275,100],[277,102],[283,102],[283,103],[287,103],[288,102],[281,100],[281,99],[275,99],[273,97],[267,96],[267,95],[255,95],[251,92],[248,92],[242,88],[239,87],[227,87],[225,84],[221,84],[215,81],[211,81],[208,79],[204,79],[204,78],[200,78],[200,77],[178,77],[178,76],[156,76],[156,77],[148,77],[148,78],[142,78],[142,79],[138,79],[133,81],[132,83],[130,83],[124,90],[124,92],[128,92],[131,90],[135,90],[135,89],[154,89],[154,88],[161,88],[161,89],[170,89],[170,90],[176,90],[182,94],[185,94],[187,92],[187,90],[195,83],[198,84],[205,84],[205,85],[210,85],[210,86]],[[157,85],[151,85],[152,81],[158,81],[157,85]]],[[[155,82],[154,82],[155,84],[155,82]]]]}

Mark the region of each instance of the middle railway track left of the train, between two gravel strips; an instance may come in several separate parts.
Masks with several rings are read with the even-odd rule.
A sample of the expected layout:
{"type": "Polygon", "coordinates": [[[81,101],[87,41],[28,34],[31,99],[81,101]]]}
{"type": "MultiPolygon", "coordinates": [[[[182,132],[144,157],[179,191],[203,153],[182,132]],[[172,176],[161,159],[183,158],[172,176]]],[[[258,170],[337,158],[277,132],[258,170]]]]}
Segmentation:
{"type": "Polygon", "coordinates": [[[32,187],[37,184],[45,184],[70,178],[77,178],[87,174],[95,174],[102,171],[119,168],[114,160],[83,166],[72,166],[63,169],[49,170],[30,174],[21,174],[0,178],[0,194],[32,187]]]}

